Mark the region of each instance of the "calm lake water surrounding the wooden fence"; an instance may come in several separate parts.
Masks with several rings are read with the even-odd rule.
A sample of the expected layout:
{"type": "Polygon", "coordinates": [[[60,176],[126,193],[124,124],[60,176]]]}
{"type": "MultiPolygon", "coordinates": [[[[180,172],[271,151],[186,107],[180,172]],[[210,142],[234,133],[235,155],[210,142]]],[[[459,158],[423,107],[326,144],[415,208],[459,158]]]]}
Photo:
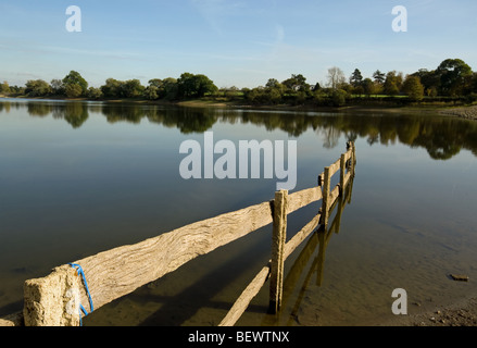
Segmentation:
{"type": "MultiPolygon", "coordinates": [[[[277,179],[184,181],[184,140],[298,141],[297,190],[356,146],[339,228],[287,260],[284,308],[267,286],[239,325],[356,325],[477,293],[477,123],[439,115],[0,102],[0,315],[57,265],[273,198],[277,179]],[[466,274],[468,283],[449,278],[466,274]]],[[[321,203],[292,214],[299,231],[321,203]]],[[[339,209],[342,208],[342,209],[339,209]]],[[[340,216],[335,216],[341,211],[340,216]]],[[[339,219],[340,217],[340,219],[339,219]]],[[[323,236],[323,235],[319,235],[323,236]]],[[[85,325],[217,325],[269,258],[271,228],[114,301],[85,325]]]]}

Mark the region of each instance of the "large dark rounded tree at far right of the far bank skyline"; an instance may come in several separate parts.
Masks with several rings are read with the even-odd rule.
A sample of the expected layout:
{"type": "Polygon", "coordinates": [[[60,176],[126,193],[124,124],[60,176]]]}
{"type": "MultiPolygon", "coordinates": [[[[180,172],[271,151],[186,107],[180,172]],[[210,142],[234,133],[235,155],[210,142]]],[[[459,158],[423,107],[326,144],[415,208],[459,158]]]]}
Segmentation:
{"type": "Polygon", "coordinates": [[[472,75],[472,69],[461,59],[447,59],[438,66],[440,91],[444,96],[461,96],[465,79],[472,75]]]}

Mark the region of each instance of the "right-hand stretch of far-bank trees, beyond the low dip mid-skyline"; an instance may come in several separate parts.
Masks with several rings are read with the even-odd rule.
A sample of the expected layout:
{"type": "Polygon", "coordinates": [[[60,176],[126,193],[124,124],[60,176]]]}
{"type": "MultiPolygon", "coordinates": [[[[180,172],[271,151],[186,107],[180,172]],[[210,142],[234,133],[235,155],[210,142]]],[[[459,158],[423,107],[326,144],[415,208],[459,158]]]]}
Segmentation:
{"type": "MultiPolygon", "coordinates": [[[[402,72],[379,70],[372,77],[364,77],[355,69],[349,78],[339,67],[328,70],[325,86],[319,83],[310,85],[303,75],[291,75],[278,82],[268,79],[265,86],[242,89],[246,100],[256,103],[288,102],[302,104],[306,101],[318,105],[341,107],[347,102],[361,98],[388,97],[397,101],[398,97],[405,102],[422,101],[424,98],[453,98],[465,102],[477,101],[477,72],[460,59],[444,60],[436,70],[419,71],[405,75],[402,72]]],[[[388,99],[388,100],[389,100],[388,99]]]]}

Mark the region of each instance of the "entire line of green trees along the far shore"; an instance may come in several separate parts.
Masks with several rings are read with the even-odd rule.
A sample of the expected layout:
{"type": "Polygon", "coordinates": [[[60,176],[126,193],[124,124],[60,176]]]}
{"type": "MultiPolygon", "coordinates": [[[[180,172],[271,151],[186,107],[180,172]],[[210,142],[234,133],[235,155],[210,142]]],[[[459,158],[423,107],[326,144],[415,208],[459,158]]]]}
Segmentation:
{"type": "Polygon", "coordinates": [[[363,99],[382,98],[384,101],[401,100],[415,102],[453,98],[465,102],[477,101],[477,72],[460,59],[447,59],[435,70],[420,69],[404,76],[402,72],[387,73],[377,70],[373,76],[364,77],[359,69],[347,78],[339,67],[328,70],[327,80],[309,84],[302,74],[279,82],[269,78],[265,86],[254,88],[221,88],[203,74],[184,73],[179,78],[153,78],[147,86],[139,79],[118,80],[108,78],[99,88],[88,87],[83,76],[75,71],[63,79],[28,80],[25,87],[0,85],[0,92],[28,97],[59,96],[67,98],[146,99],[177,101],[205,96],[225,100],[241,100],[251,104],[305,104],[341,107],[363,99]],[[379,97],[378,97],[379,96],[379,97]]]}

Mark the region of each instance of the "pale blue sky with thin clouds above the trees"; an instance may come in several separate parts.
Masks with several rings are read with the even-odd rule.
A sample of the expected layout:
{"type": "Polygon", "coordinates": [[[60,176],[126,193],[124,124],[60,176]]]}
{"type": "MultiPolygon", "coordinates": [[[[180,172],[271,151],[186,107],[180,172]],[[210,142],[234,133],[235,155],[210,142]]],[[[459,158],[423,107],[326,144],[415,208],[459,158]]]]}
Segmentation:
{"type": "Polygon", "coordinates": [[[219,88],[292,74],[324,85],[332,66],[347,77],[405,75],[449,58],[477,71],[476,13],[476,0],[0,0],[0,80],[24,86],[74,70],[93,87],[185,72],[219,88]],[[66,29],[70,5],[81,32],[66,29]],[[407,32],[393,30],[397,5],[407,32]]]}

